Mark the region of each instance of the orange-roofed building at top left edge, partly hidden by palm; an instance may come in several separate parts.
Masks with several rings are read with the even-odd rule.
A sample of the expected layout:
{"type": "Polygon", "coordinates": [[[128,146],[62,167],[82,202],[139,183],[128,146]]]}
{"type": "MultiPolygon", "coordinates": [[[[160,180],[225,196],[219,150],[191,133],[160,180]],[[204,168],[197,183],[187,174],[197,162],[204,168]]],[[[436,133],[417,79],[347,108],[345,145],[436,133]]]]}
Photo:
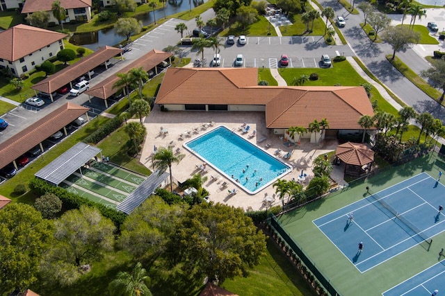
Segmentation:
{"type": "MultiPolygon", "coordinates": [[[[1,0],[0,0],[1,1],[1,0]]],[[[67,10],[67,18],[63,23],[70,21],[90,21],[91,20],[91,1],[92,0],[60,0],[60,6],[67,10]]],[[[58,19],[51,12],[51,6],[54,0],[26,0],[22,13],[31,15],[37,11],[49,12],[49,21],[59,24],[58,19]]]]}

